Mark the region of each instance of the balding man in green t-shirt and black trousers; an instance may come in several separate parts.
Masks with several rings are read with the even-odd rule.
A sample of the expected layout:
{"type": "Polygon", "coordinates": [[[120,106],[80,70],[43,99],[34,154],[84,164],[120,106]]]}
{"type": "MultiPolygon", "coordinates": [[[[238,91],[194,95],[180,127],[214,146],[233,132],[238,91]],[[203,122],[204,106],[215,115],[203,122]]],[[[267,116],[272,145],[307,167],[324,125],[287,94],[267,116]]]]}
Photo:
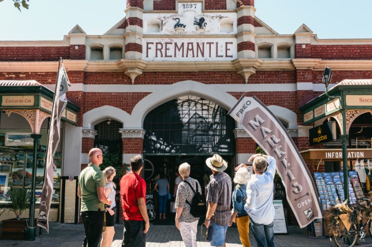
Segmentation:
{"type": "Polygon", "coordinates": [[[103,161],[101,149],[89,151],[90,163],[79,175],[77,196],[82,199],[80,215],[84,224],[85,238],[83,246],[98,246],[103,231],[104,204],[111,205],[105,196],[105,177],[100,170],[103,161]]]}

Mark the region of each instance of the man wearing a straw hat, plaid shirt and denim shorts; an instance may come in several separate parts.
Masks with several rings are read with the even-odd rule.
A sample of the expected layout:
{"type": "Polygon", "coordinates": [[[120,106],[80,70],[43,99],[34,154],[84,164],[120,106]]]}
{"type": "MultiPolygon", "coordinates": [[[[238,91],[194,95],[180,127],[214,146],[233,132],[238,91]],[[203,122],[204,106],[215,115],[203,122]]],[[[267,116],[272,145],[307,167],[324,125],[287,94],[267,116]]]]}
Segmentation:
{"type": "Polygon", "coordinates": [[[212,171],[210,181],[205,188],[208,204],[204,224],[213,227],[211,246],[226,246],[225,237],[230,222],[231,178],[223,171],[227,162],[218,154],[208,158],[205,163],[212,171]]]}

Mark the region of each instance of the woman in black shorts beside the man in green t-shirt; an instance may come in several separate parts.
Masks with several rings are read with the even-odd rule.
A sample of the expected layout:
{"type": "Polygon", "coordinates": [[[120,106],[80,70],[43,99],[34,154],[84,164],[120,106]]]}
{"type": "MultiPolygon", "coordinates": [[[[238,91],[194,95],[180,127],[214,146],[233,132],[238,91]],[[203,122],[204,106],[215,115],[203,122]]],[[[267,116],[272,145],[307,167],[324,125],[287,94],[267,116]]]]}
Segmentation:
{"type": "Polygon", "coordinates": [[[106,179],[106,186],[105,186],[105,195],[108,199],[111,199],[112,203],[110,208],[106,209],[106,231],[102,233],[102,240],[101,240],[101,247],[110,247],[112,243],[112,239],[115,234],[114,230],[114,210],[113,208],[116,206],[115,202],[115,183],[112,179],[116,176],[116,170],[113,167],[107,167],[105,171],[103,171],[106,179]]]}

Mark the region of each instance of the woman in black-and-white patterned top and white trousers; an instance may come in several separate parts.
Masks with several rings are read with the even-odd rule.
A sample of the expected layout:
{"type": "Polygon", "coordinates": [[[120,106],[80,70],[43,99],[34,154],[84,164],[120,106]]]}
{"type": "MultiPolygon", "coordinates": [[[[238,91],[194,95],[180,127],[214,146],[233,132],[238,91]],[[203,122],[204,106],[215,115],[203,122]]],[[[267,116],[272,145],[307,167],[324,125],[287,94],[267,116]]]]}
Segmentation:
{"type": "Polygon", "coordinates": [[[190,165],[188,163],[181,164],[178,171],[183,181],[178,186],[177,196],[175,198],[174,208],[177,209],[175,213],[175,226],[180,230],[185,246],[196,247],[198,246],[197,229],[199,218],[195,218],[190,214],[190,205],[186,201],[191,203],[194,193],[190,186],[184,181],[189,182],[194,191],[197,191],[197,186],[200,193],[202,189],[197,180],[189,177],[190,165]]]}

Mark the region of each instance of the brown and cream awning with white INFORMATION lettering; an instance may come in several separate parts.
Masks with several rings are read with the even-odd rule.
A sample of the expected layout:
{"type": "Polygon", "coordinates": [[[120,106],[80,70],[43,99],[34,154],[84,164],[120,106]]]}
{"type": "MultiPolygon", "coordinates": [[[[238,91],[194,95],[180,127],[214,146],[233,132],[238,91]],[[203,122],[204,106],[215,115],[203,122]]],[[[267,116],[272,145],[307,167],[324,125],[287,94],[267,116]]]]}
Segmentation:
{"type": "MultiPolygon", "coordinates": [[[[342,161],[342,149],[308,149],[300,152],[304,160],[311,161],[314,171],[318,171],[322,161],[342,161]]],[[[348,149],[347,160],[372,159],[372,149],[348,149]]]]}

